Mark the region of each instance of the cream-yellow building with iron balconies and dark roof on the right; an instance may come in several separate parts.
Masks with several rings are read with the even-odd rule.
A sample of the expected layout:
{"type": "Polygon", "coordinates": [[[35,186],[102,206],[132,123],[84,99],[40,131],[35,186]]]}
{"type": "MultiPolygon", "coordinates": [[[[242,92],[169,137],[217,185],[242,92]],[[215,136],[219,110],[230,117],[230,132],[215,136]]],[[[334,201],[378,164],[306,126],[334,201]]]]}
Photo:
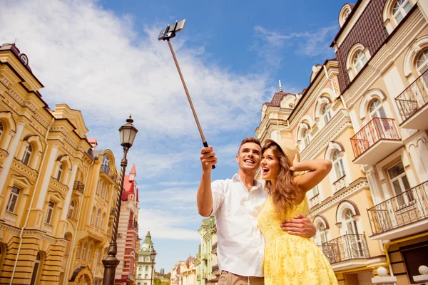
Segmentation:
{"type": "Polygon", "coordinates": [[[262,142],[288,138],[302,160],[333,162],[307,201],[340,284],[379,281],[381,266],[414,284],[428,265],[427,11],[427,1],[345,4],[337,58],[262,108],[262,142]]]}

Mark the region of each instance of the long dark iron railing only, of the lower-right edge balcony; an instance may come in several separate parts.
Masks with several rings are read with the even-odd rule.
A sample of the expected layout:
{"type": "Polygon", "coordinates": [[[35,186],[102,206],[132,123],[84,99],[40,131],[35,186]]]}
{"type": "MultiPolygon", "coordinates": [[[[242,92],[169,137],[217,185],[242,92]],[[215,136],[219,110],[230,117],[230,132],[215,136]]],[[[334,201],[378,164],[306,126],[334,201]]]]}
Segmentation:
{"type": "Polygon", "coordinates": [[[373,234],[428,218],[428,181],[367,209],[373,234]]]}

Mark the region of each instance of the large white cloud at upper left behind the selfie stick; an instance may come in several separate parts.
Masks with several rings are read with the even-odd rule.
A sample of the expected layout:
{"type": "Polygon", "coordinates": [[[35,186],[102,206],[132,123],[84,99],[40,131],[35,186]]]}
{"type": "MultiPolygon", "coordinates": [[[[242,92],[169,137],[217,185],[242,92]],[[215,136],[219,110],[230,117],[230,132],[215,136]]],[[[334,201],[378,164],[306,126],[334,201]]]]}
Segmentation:
{"type": "MultiPolygon", "coordinates": [[[[141,128],[158,136],[195,130],[168,45],[157,40],[163,26],[138,34],[131,16],[118,17],[97,1],[9,0],[1,7],[0,27],[0,41],[17,38],[29,56],[51,108],[66,102],[95,126],[121,125],[132,113],[141,128]]],[[[204,62],[203,46],[186,48],[182,33],[172,42],[205,129],[218,133],[254,123],[265,78],[204,62]]]]}

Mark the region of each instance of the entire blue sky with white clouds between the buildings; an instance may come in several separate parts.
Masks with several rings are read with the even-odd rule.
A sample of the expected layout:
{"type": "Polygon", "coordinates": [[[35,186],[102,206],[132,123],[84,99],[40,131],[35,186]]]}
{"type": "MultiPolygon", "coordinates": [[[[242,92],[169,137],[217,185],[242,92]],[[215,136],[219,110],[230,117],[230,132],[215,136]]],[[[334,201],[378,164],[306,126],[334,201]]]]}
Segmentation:
{"type": "MultiPolygon", "coordinates": [[[[29,57],[50,108],[81,110],[88,138],[120,162],[118,128],[129,113],[140,130],[128,155],[140,190],[140,236],[151,230],[156,270],[198,251],[195,205],[200,137],[167,43],[167,24],[187,19],[173,38],[183,76],[218,153],[214,179],[237,171],[240,140],[254,135],[262,104],[278,90],[300,92],[329,48],[345,1],[6,0],[0,43],[29,57]]],[[[119,166],[119,165],[118,165],[119,166]]],[[[128,171],[131,168],[128,167],[128,171]]]]}

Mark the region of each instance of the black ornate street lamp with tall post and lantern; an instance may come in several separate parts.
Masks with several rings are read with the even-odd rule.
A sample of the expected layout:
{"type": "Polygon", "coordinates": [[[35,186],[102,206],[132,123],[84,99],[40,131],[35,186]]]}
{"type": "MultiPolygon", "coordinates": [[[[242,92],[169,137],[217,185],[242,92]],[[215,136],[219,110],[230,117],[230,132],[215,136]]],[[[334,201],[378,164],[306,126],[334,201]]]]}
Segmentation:
{"type": "Polygon", "coordinates": [[[128,150],[132,147],[133,141],[136,138],[138,130],[133,126],[133,119],[131,115],[126,120],[126,124],[121,126],[119,129],[119,133],[121,134],[121,145],[123,147],[123,158],[121,160],[121,187],[118,191],[118,197],[116,199],[116,209],[114,212],[114,220],[113,220],[113,234],[111,236],[110,246],[108,247],[108,256],[103,260],[104,265],[104,278],[103,285],[113,285],[116,267],[119,262],[116,258],[116,254],[118,253],[118,246],[116,244],[116,239],[118,238],[118,222],[119,215],[121,214],[121,204],[122,204],[122,193],[123,193],[123,180],[125,180],[125,170],[126,165],[128,165],[128,160],[126,159],[126,155],[128,154],[128,150]]]}

